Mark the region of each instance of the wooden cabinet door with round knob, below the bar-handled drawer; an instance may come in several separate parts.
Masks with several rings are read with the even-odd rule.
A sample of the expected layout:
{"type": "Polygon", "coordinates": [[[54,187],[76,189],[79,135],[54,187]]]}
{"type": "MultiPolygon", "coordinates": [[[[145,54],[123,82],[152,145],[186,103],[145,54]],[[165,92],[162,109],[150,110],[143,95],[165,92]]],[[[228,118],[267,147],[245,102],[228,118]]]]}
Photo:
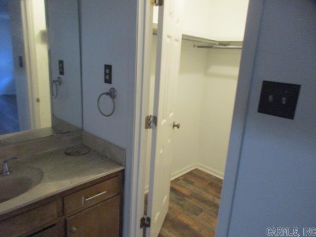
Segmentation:
{"type": "Polygon", "coordinates": [[[118,237],[119,196],[66,219],[68,237],[118,237]]]}

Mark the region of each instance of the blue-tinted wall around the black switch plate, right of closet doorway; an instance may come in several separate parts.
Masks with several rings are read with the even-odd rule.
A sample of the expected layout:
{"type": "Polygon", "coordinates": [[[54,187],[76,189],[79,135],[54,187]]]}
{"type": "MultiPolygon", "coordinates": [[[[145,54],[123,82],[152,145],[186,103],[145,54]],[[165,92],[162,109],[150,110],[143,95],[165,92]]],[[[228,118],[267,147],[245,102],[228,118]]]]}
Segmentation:
{"type": "Polygon", "coordinates": [[[230,237],[315,227],[315,22],[315,1],[264,1],[230,237]],[[294,120],[257,113],[266,79],[302,85],[294,120]]]}

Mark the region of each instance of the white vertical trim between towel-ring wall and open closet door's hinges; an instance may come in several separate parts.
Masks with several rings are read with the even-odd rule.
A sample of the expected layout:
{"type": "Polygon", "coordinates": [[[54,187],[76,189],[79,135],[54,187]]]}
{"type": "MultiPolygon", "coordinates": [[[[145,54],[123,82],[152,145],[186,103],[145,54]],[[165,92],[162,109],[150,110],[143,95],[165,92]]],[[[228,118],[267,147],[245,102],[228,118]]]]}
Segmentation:
{"type": "MultiPolygon", "coordinates": [[[[128,80],[128,99],[132,106],[128,107],[128,116],[131,126],[128,126],[126,168],[124,186],[123,237],[142,237],[143,230],[139,223],[144,215],[145,206],[145,177],[147,133],[145,130],[145,115],[148,115],[149,78],[151,69],[152,43],[152,14],[153,7],[148,0],[135,0],[136,23],[135,43],[136,50],[128,52],[130,58],[135,57],[135,64],[131,63],[131,74],[128,80]],[[148,87],[148,88],[147,88],[148,87]]],[[[134,20],[134,19],[131,19],[134,20]]],[[[133,47],[131,47],[133,48],[133,47]]]]}

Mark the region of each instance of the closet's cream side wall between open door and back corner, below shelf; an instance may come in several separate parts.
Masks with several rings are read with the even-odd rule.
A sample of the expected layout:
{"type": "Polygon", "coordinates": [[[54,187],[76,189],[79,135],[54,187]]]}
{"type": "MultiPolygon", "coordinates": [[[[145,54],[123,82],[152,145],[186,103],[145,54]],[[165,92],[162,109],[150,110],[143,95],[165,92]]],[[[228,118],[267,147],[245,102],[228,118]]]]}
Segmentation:
{"type": "Polygon", "coordinates": [[[192,42],[182,41],[174,110],[175,122],[180,122],[181,125],[180,129],[173,131],[173,177],[192,168],[200,158],[200,119],[206,61],[207,49],[194,48],[192,42]]]}

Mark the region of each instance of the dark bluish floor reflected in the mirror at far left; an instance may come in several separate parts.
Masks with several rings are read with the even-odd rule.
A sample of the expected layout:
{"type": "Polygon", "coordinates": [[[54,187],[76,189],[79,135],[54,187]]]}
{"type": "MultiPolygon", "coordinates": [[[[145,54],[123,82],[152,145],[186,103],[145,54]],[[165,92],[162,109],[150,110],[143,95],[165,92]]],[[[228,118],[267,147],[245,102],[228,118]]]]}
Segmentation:
{"type": "Polygon", "coordinates": [[[19,120],[15,95],[0,96],[0,135],[18,132],[19,120]]]}

